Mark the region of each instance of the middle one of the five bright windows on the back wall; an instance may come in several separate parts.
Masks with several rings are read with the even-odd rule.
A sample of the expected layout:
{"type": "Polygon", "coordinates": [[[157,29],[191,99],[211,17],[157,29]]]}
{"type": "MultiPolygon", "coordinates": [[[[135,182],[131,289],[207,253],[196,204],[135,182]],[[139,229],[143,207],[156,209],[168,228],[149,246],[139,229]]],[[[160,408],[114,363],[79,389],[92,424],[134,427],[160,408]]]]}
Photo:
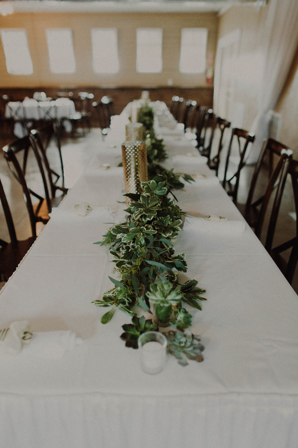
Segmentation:
{"type": "Polygon", "coordinates": [[[116,28],[92,28],[92,64],[95,73],[119,71],[118,34],[116,28]]]}

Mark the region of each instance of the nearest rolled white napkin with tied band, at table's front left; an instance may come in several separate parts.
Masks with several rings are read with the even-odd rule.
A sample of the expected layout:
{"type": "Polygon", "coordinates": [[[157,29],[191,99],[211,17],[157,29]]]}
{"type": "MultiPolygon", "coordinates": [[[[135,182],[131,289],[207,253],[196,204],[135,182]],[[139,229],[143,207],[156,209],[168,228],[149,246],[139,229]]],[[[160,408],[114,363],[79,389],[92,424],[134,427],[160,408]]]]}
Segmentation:
{"type": "Polygon", "coordinates": [[[4,353],[18,354],[26,345],[25,353],[41,358],[61,358],[66,350],[73,350],[83,341],[71,331],[30,332],[28,321],[18,321],[0,330],[0,346],[4,353]]]}

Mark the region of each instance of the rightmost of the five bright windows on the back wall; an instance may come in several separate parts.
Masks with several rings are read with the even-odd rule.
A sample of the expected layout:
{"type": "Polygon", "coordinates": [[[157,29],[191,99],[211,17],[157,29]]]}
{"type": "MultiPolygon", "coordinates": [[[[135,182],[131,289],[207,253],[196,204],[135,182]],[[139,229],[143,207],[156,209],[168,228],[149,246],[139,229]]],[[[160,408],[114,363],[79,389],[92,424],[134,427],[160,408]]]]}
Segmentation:
{"type": "Polygon", "coordinates": [[[206,69],[206,28],[182,28],[180,73],[203,73],[206,69]]]}

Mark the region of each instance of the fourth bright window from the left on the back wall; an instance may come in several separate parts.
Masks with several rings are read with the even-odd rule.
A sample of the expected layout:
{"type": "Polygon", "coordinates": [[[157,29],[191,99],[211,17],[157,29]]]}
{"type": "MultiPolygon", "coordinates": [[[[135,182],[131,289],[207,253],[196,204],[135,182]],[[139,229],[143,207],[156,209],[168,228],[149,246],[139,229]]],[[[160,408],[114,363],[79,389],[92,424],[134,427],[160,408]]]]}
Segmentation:
{"type": "Polygon", "coordinates": [[[137,28],[137,72],[162,71],[162,40],[161,28],[137,28]]]}

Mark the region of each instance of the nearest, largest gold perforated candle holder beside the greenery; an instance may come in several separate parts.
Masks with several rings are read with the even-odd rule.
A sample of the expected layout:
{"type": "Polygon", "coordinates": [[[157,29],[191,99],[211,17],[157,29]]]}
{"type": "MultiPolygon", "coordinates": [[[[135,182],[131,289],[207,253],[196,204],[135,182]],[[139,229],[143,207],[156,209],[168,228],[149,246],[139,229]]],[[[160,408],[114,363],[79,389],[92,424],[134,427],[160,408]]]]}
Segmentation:
{"type": "MultiPolygon", "coordinates": [[[[142,193],[142,182],[148,181],[147,152],[145,142],[128,141],[122,144],[122,162],[124,170],[125,192],[142,193]]],[[[131,202],[126,198],[126,204],[131,202]]]]}

